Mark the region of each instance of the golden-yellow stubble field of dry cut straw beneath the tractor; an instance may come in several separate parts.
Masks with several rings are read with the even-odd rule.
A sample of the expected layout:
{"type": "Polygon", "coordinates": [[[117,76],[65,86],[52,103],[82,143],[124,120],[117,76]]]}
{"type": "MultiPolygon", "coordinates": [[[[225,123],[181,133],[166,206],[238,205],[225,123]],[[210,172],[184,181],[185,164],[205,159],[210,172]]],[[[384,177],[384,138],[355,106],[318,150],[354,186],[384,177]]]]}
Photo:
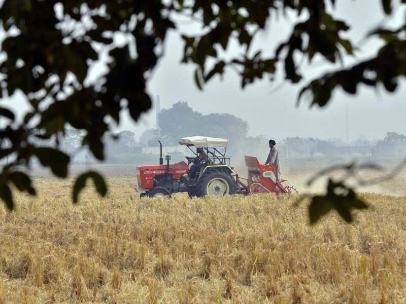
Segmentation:
{"type": "Polygon", "coordinates": [[[361,194],[352,224],[310,226],[295,197],[140,200],[111,175],[73,205],[72,180],[37,178],[38,197],[0,207],[0,303],[404,303],[404,179],[361,194]]]}

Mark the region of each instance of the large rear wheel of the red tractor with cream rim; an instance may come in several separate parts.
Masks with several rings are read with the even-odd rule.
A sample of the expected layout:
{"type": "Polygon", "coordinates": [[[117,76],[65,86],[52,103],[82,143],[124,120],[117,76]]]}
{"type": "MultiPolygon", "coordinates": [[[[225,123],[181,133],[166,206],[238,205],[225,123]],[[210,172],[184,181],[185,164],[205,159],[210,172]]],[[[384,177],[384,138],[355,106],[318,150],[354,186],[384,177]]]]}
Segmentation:
{"type": "Polygon", "coordinates": [[[209,170],[204,173],[196,184],[196,196],[223,197],[235,194],[237,185],[234,178],[225,170],[209,170]]]}

